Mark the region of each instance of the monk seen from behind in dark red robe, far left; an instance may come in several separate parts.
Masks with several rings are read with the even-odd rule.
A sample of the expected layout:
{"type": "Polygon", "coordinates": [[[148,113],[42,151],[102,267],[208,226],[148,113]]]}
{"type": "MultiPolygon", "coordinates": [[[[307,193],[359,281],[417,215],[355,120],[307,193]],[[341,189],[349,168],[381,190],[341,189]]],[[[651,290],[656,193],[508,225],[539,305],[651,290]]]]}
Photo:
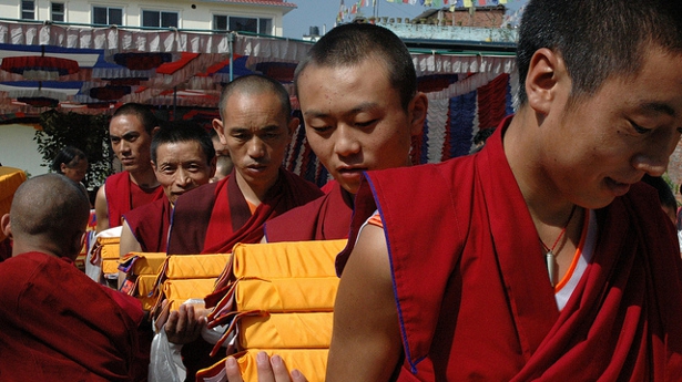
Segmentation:
{"type": "Polygon", "coordinates": [[[146,379],[140,302],[73,264],[89,215],[79,185],[48,174],[22,184],[0,219],[13,239],[12,258],[0,264],[2,381],[146,379]]]}

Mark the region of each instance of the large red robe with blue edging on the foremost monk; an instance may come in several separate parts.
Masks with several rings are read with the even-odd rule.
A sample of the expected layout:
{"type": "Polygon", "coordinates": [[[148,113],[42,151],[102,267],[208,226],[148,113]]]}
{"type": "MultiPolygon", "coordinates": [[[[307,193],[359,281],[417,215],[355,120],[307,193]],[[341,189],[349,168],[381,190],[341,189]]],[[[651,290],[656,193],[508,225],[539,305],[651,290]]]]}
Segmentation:
{"type": "Polygon", "coordinates": [[[597,210],[592,262],[559,312],[503,130],[474,156],[369,173],[356,196],[337,269],[378,206],[405,349],[398,381],[680,381],[682,261],[655,193],[633,185],[597,210]]]}

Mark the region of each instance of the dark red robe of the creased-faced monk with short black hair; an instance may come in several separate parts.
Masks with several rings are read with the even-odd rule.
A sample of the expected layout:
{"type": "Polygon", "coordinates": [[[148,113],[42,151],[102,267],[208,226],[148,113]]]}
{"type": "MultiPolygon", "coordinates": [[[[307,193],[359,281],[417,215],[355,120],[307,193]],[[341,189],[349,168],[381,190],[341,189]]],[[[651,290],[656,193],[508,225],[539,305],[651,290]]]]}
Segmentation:
{"type": "Polygon", "coordinates": [[[164,196],[123,215],[143,252],[165,252],[173,207],[164,196]]]}

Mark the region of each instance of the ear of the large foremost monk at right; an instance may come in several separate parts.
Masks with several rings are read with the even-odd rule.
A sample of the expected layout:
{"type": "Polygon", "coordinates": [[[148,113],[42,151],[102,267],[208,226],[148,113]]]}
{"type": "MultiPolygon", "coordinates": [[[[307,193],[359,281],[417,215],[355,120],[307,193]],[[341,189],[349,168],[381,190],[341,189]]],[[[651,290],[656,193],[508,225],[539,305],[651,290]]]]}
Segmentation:
{"type": "Polygon", "coordinates": [[[571,82],[561,56],[548,48],[537,50],[530,59],[526,76],[526,94],[530,107],[540,114],[549,114],[552,101],[562,85],[568,85],[570,93],[571,82]]]}

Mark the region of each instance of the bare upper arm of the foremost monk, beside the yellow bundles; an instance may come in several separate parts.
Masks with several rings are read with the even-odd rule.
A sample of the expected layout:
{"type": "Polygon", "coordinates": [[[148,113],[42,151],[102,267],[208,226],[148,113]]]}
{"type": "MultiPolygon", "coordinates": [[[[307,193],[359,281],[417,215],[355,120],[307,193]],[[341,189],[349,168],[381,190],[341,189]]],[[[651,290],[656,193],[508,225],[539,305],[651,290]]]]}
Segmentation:
{"type": "Polygon", "coordinates": [[[401,352],[384,230],[366,226],[338,286],[326,381],[388,381],[401,352]]]}

